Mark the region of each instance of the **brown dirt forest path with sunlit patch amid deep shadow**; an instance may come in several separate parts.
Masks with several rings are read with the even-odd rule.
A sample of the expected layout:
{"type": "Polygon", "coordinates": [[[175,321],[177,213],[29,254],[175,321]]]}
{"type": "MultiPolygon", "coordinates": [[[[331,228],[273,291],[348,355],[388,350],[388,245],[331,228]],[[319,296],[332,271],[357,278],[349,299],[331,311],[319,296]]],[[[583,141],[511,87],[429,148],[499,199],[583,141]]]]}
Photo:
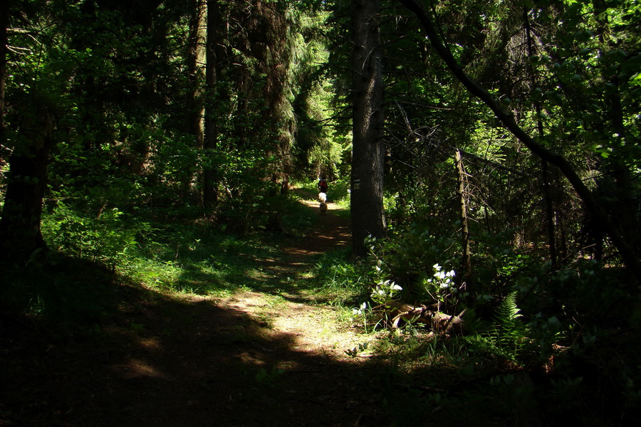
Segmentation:
{"type": "MultiPolygon", "coordinates": [[[[308,280],[313,255],[348,243],[348,220],[329,207],[280,258],[260,260],[263,274],[308,280]]],[[[4,320],[0,426],[389,424],[369,374],[375,361],[345,353],[363,338],[308,293],[129,292],[95,334],[4,320]]]]}

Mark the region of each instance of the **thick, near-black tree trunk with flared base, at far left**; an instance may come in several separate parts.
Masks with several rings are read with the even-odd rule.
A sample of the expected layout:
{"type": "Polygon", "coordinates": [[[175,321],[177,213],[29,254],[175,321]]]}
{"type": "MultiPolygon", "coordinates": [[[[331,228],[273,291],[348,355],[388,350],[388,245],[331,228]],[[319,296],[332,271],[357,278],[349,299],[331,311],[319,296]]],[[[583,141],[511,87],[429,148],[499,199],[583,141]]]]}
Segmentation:
{"type": "Polygon", "coordinates": [[[9,157],[9,184],[0,218],[0,249],[5,258],[25,261],[45,248],[40,221],[52,130],[48,108],[34,102],[22,117],[19,144],[9,157]]]}

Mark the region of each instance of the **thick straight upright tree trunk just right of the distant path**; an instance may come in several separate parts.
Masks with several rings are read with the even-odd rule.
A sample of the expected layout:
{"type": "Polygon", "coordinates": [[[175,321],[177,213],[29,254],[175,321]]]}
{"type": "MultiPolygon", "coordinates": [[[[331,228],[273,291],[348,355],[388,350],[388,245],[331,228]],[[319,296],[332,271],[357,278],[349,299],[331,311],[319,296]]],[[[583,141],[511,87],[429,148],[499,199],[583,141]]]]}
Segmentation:
{"type": "Polygon", "coordinates": [[[353,0],[352,90],[353,154],[351,179],[351,216],[353,253],[363,255],[368,236],[385,235],[382,206],[383,85],[380,63],[380,2],[353,0]]]}

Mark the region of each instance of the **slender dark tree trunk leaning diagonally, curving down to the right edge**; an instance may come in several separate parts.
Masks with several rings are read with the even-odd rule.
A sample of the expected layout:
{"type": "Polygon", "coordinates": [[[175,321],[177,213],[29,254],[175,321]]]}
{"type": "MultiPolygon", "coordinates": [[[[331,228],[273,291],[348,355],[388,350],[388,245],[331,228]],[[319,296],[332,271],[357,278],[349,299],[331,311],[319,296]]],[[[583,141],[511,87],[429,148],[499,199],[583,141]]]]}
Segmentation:
{"type": "Polygon", "coordinates": [[[605,212],[603,206],[600,205],[597,198],[592,191],[588,189],[583,180],[578,176],[574,167],[568,159],[561,156],[556,152],[543,147],[534,140],[530,135],[528,135],[521,127],[516,124],[514,117],[510,115],[509,112],[504,110],[503,107],[497,102],[490,93],[481,88],[478,83],[474,82],[460,67],[457,63],[457,60],[454,59],[452,53],[447,49],[446,46],[442,43],[439,38],[439,34],[432,24],[432,20],[429,18],[427,12],[423,9],[423,6],[419,4],[416,0],[400,0],[400,3],[405,6],[412,13],[416,14],[423,28],[427,32],[430,43],[432,47],[439,54],[439,56],[444,60],[444,63],[447,65],[447,68],[456,76],[457,79],[469,90],[470,93],[479,97],[485,105],[490,107],[490,109],[496,115],[496,118],[501,120],[503,125],[512,132],[512,135],[517,137],[523,145],[528,147],[528,149],[538,156],[539,158],[545,160],[546,162],[553,164],[558,167],[563,176],[568,179],[570,184],[573,186],[573,189],[577,192],[580,199],[585,205],[585,209],[588,213],[595,218],[598,223],[603,226],[605,233],[610,236],[614,246],[617,248],[617,251],[620,253],[623,263],[627,269],[635,277],[637,283],[641,282],[641,261],[637,258],[637,254],[634,249],[627,243],[626,239],[622,236],[615,223],[612,221],[610,216],[605,212]]]}

